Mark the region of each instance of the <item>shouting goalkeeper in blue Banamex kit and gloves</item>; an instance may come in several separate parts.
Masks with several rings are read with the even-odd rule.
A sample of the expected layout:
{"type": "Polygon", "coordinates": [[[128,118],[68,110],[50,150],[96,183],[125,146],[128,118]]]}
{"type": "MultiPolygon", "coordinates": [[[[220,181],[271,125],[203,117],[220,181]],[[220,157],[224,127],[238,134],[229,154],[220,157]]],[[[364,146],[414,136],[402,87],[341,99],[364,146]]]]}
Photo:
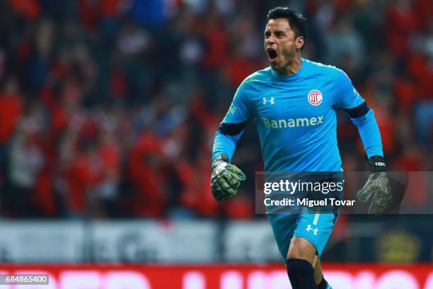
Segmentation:
{"type": "MultiPolygon", "coordinates": [[[[246,179],[231,158],[250,118],[257,126],[265,171],[342,171],[336,117],[342,109],[357,126],[369,157],[371,176],[358,197],[365,201],[374,195],[370,210],[379,213],[390,193],[374,113],[345,72],[301,57],[305,41],[301,13],[282,7],[269,11],[264,49],[270,67],[242,82],[215,134],[212,193],[218,201],[227,200],[246,179]]],[[[320,258],[338,212],[267,215],[292,287],[330,288],[320,258]]]]}

